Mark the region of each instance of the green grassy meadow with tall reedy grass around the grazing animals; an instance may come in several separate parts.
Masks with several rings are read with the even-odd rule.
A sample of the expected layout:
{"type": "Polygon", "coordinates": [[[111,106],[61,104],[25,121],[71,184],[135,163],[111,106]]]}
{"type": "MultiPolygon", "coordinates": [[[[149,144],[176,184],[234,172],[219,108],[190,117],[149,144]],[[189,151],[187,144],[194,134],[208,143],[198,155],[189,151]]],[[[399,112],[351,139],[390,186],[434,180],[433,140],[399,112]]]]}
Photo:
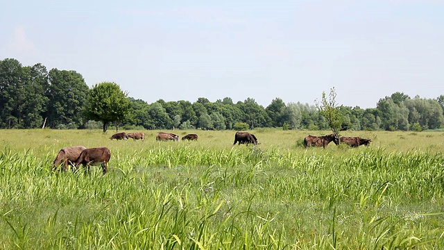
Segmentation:
{"type": "Polygon", "coordinates": [[[0,249],[444,249],[444,132],[142,132],[0,130],[0,249]],[[108,147],[108,174],[52,172],[76,145],[108,147]]]}

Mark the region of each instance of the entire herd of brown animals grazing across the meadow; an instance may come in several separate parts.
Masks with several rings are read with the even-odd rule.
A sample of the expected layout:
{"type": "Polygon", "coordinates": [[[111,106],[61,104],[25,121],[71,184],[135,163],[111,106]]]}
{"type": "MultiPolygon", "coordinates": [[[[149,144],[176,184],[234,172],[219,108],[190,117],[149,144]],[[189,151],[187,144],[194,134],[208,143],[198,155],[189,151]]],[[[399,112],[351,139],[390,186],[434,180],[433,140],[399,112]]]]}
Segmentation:
{"type": "MultiPolygon", "coordinates": [[[[145,134],[142,132],[136,133],[115,133],[110,137],[111,140],[145,140],[145,134]]],[[[198,135],[190,133],[182,137],[182,140],[196,140],[198,135]]],[[[167,132],[159,132],[156,135],[155,140],[158,141],[179,141],[179,135],[167,132]]],[[[359,137],[338,137],[332,133],[330,135],[314,136],[307,135],[304,138],[305,147],[327,147],[330,142],[339,145],[339,143],[348,144],[350,147],[359,147],[361,145],[368,146],[371,142],[370,139],[364,139],[359,137]]],[[[252,133],[237,131],[234,134],[234,144],[259,144],[257,138],[252,133]]],[[[56,170],[61,164],[63,164],[63,170],[67,172],[69,165],[74,166],[76,169],[80,167],[80,164],[85,167],[85,171],[89,172],[90,165],[101,165],[103,174],[108,172],[108,162],[111,158],[111,151],[108,147],[95,147],[89,148],[83,146],[64,147],[58,152],[56,159],[53,162],[53,170],[56,170]]]]}

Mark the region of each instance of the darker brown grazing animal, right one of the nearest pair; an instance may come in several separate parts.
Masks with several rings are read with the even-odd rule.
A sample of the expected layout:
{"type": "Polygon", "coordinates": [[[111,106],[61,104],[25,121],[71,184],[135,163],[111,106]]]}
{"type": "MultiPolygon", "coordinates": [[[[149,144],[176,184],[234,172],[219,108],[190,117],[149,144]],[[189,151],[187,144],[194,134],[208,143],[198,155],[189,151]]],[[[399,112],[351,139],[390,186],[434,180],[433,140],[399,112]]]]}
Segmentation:
{"type": "Polygon", "coordinates": [[[108,172],[108,162],[111,158],[111,151],[107,147],[97,147],[91,149],[83,149],[80,156],[78,156],[76,163],[76,169],[80,167],[80,164],[83,167],[86,167],[86,172],[89,172],[90,165],[102,165],[103,174],[108,172]]]}

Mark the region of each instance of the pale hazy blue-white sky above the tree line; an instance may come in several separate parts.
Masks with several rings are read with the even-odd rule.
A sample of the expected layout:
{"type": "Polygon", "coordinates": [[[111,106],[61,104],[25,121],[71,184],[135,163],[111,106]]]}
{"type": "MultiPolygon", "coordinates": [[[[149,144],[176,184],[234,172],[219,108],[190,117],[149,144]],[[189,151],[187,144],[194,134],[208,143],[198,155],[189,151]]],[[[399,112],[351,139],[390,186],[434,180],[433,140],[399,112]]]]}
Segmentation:
{"type": "Polygon", "coordinates": [[[444,0],[8,1],[0,60],[75,70],[153,103],[375,108],[444,94],[444,0]]]}

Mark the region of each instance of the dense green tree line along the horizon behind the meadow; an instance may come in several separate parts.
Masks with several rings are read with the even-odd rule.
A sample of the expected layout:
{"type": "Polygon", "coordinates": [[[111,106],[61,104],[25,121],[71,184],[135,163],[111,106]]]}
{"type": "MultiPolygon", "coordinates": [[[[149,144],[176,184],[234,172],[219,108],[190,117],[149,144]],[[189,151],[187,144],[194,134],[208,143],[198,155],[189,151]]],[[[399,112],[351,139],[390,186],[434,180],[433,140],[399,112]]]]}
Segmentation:
{"type": "MultiPolygon", "coordinates": [[[[116,86],[106,83],[89,88],[83,76],[72,70],[48,72],[40,63],[22,66],[15,59],[0,60],[0,128],[39,128],[43,124],[49,128],[87,128],[94,124],[92,119],[146,129],[330,128],[318,106],[286,104],[280,98],[264,108],[253,98],[237,103],[230,97],[215,102],[200,97],[194,103],[162,99],[147,103],[123,94],[118,98],[126,99],[124,106],[128,107],[124,110],[129,110],[128,113],[114,114],[114,110],[106,108],[92,113],[91,107],[100,107],[101,92],[96,89],[116,86]],[[97,115],[106,118],[95,118],[97,115]]],[[[373,131],[444,128],[443,110],[443,94],[436,99],[423,99],[402,92],[380,99],[376,108],[338,107],[342,130],[373,131]]],[[[104,131],[107,124],[101,124],[104,131]]]]}

